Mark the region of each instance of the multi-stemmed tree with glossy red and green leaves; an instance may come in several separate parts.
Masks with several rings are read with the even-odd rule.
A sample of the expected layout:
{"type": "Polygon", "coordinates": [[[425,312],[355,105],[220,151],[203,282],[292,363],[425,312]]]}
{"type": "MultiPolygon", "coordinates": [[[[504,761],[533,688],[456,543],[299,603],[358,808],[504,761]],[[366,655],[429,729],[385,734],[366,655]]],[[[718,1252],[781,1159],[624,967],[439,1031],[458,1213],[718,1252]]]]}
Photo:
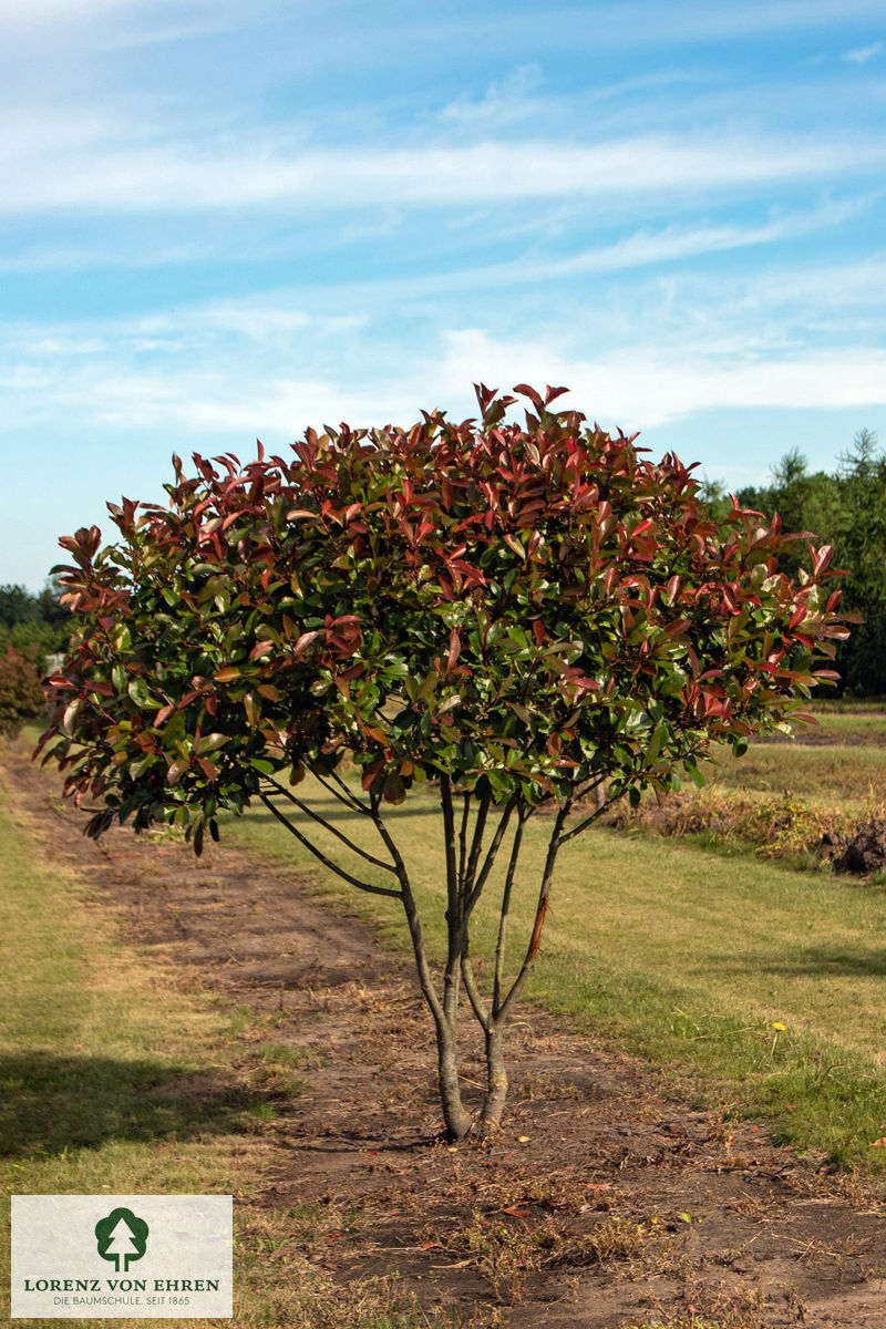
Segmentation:
{"type": "Polygon", "coordinates": [[[713,744],[740,752],[786,726],[836,676],[817,664],[845,635],[828,548],[794,583],[777,560],[798,537],[777,518],[735,505],[719,536],[676,457],[654,464],[551,409],[565,389],[514,391],[525,424],[506,423],[515,397],[481,385],[481,423],[308,429],[288,460],[195,456],[191,476],[174,459],[166,505],[109,505],[117,544],[101,549],[96,528],[62,540],[76,631],[43,740],[66,792],[97,800],[93,836],[173,821],[199,853],[219,812],[259,800],[351,885],[397,901],[452,1139],[501,1119],[502,1030],[562,845],[623,795],[671,789],[680,771],[700,781],[713,744]],[[349,819],[311,805],[306,772],[349,819]],[[441,807],[442,973],[385,815],[417,784],[441,807]],[[542,808],[546,860],[513,938],[521,843],[542,808]],[[472,920],[499,852],[481,982],[472,920]],[[458,1080],[460,990],[486,1045],[477,1114],[458,1080]]]}

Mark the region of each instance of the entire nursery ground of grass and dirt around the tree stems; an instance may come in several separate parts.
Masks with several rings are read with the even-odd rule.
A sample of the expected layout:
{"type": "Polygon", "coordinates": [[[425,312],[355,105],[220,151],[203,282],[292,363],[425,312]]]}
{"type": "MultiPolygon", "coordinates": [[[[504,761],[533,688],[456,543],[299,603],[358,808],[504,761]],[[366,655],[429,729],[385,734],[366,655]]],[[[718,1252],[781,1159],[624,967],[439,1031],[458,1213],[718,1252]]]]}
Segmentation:
{"type": "MultiPolygon", "coordinates": [[[[820,719],[707,796],[875,815],[886,712],[820,719]]],[[[4,1189],[234,1193],[244,1326],[886,1320],[883,886],[744,823],[571,841],[501,1139],[448,1148],[395,901],[263,812],[199,863],[163,836],[94,845],[24,751],[0,766],[4,1189]]],[[[392,815],[426,912],[433,799],[392,815]]]]}

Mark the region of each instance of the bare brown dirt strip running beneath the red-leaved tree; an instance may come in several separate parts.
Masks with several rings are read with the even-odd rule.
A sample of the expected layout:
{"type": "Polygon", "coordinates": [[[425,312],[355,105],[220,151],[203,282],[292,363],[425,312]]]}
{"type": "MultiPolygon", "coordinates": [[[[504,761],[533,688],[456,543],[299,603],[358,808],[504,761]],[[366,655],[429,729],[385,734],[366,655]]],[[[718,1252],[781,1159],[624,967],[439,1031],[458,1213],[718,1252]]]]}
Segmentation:
{"type": "Polygon", "coordinates": [[[399,1272],[428,1310],[507,1329],[886,1326],[886,1213],[853,1179],[688,1108],[527,1005],[501,1136],[446,1147],[429,1021],[364,924],[234,848],[195,861],[121,829],[96,845],[24,758],[4,766],[17,815],[161,982],[174,965],[230,1007],[275,1013],[262,1037],[292,1050],[303,1084],[274,1102],[262,1199],[343,1216],[306,1239],[333,1282],[399,1272]]]}

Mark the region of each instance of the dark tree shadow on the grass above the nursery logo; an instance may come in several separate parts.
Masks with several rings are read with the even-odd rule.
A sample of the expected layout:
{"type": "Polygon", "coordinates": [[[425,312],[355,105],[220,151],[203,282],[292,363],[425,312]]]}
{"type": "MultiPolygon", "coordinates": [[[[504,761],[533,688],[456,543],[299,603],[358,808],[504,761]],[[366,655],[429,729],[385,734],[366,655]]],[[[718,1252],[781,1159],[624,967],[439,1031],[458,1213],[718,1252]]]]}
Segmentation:
{"type": "Polygon", "coordinates": [[[0,1057],[0,1154],[235,1134],[263,1098],[217,1073],[157,1061],[0,1057]]]}

